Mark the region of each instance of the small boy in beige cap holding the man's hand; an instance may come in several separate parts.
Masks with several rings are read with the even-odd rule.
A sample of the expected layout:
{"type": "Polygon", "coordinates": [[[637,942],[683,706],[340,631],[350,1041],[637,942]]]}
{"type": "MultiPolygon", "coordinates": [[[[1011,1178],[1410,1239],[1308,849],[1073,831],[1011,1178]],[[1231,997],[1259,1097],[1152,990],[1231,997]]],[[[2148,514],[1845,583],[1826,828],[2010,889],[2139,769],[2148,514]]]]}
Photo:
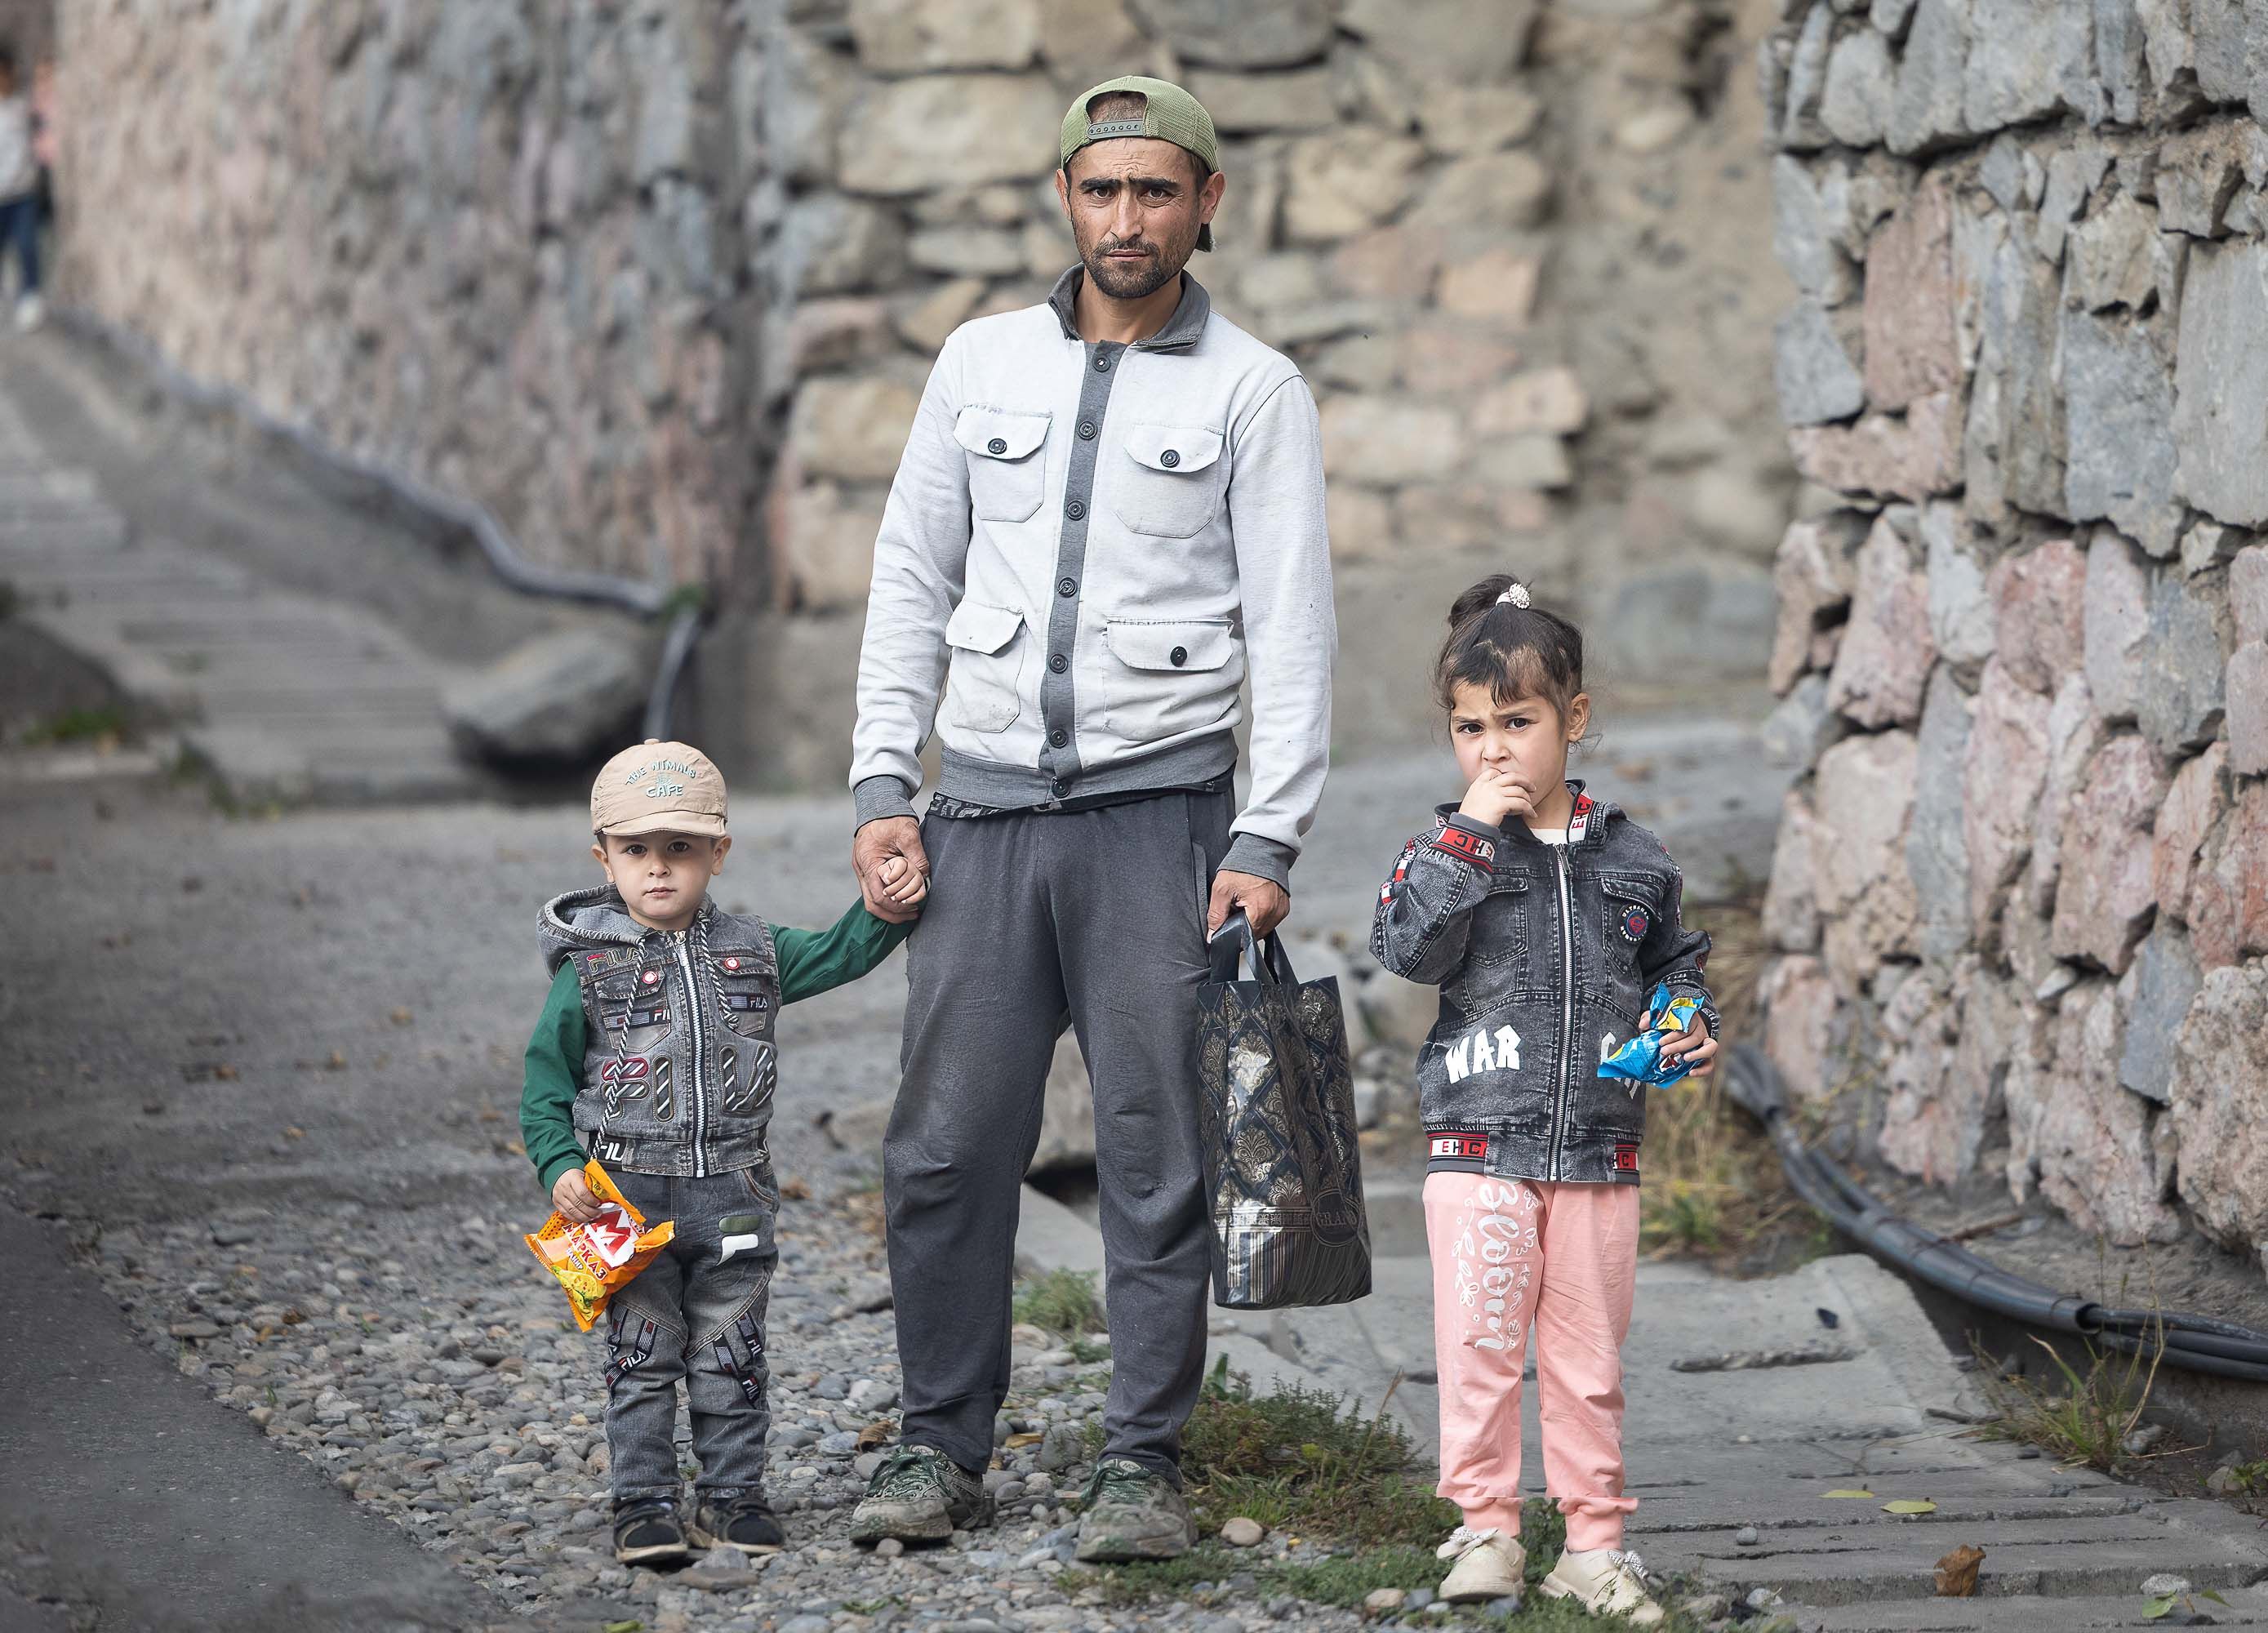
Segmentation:
{"type": "MultiPolygon", "coordinates": [[[[864,905],[832,930],[773,930],[719,912],[726,792],[717,767],[646,739],[590,792],[606,885],[542,914],[551,998],[528,1039],[519,1127],[535,1175],[572,1220],[596,1218],[596,1157],[676,1241],[606,1313],[606,1445],[615,1558],[667,1563],[696,1547],[771,1554],[764,1504],[764,1302],[778,1261],[771,1177],[773,1023],[780,1005],[857,980],[905,939],[864,905]],[[678,1379],[701,1458],[692,1529],[678,1520],[678,1379]]],[[[925,880],[898,880],[912,909],[925,880]]]]}

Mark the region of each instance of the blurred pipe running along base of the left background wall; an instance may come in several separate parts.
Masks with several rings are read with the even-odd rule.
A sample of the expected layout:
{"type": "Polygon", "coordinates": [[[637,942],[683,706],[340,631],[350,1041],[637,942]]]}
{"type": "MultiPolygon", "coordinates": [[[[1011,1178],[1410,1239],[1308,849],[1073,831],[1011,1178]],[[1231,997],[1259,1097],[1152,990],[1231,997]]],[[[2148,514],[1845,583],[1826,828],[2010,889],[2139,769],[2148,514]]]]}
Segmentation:
{"type": "MultiPolygon", "coordinates": [[[[254,431],[286,442],[299,458],[333,481],[347,479],[354,485],[374,488],[390,504],[440,517],[445,524],[469,535],[497,578],[522,594],[612,606],[637,617],[658,617],[669,610],[671,592],[667,585],[574,567],[547,567],[544,562],[528,560],[519,553],[513,535],[503,531],[503,524],[481,501],[447,494],[390,465],[336,449],[311,426],[268,413],[247,392],[184,372],[156,345],[122,324],[113,324],[77,306],[57,308],[54,318],[64,329],[132,361],[168,395],[179,397],[193,408],[231,415],[254,431]]],[[[678,680],[692,660],[699,633],[701,608],[696,603],[680,606],[669,619],[669,633],[662,637],[660,662],[653,671],[653,687],[646,692],[646,737],[669,737],[678,680]]]]}

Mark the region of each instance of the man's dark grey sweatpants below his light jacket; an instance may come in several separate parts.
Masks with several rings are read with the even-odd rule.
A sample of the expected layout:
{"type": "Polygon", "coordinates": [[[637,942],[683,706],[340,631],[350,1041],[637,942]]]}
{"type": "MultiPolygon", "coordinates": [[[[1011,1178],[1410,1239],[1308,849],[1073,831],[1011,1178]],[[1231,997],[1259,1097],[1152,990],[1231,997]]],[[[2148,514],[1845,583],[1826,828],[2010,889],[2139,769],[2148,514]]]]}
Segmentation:
{"type": "Polygon", "coordinates": [[[905,1082],[882,1143],[907,1445],[964,1470],[991,1461],[1018,1198],[1068,1021],[1095,1086],[1105,1442],[1179,1481],[1209,1281],[1198,987],[1229,801],[1157,794],[921,823],[930,900],[907,944],[905,1082]]]}

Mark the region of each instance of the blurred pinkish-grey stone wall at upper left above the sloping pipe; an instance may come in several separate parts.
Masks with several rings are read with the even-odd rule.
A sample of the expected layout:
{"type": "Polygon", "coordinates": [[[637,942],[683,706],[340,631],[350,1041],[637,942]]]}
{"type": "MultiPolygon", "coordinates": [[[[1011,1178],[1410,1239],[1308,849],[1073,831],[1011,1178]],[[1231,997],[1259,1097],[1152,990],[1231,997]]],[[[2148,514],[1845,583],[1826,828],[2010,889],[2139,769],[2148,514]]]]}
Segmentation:
{"type": "Polygon", "coordinates": [[[66,299],[542,560],[735,565],[771,5],[59,11],[66,299]]]}

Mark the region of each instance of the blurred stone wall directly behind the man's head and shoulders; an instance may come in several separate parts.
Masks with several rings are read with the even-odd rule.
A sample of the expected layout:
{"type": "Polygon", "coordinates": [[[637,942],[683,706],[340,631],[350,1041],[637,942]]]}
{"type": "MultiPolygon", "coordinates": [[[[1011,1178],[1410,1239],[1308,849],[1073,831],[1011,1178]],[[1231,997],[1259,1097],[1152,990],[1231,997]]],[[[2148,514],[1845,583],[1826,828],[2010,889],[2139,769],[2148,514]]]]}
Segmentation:
{"type": "MultiPolygon", "coordinates": [[[[1794,494],[1744,70],[1769,23],[1728,0],[796,5],[798,95],[767,127],[785,603],[862,606],[937,345],[1070,263],[1055,129],[1141,70],[1222,132],[1220,252],[1193,272],[1322,399],[1343,599],[1408,601],[1397,699],[1422,712],[1411,637],[1501,567],[1590,610],[1622,678],[1753,676],[1794,494]]],[[[1343,717],[1393,712],[1406,742],[1377,692],[1343,717]]]]}

